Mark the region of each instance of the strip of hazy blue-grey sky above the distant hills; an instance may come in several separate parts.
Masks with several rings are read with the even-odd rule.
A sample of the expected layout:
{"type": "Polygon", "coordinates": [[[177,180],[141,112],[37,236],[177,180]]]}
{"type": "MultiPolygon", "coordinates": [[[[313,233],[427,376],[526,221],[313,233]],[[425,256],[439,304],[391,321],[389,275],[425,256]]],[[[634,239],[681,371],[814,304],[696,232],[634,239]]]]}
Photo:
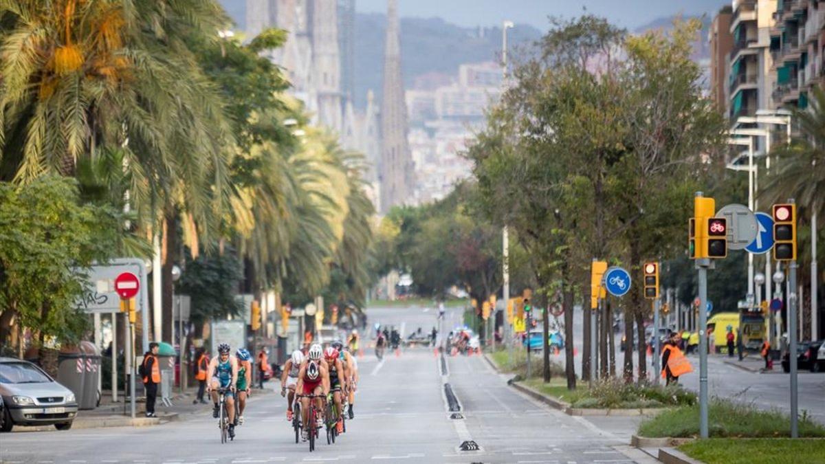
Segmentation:
{"type": "MultiPolygon", "coordinates": [[[[719,11],[730,0],[398,0],[402,17],[441,17],[460,26],[493,26],[508,19],[544,31],[548,16],[573,17],[587,7],[629,29],[676,13],[719,11]]],[[[356,0],[359,12],[386,12],[386,0],[356,0]]]]}

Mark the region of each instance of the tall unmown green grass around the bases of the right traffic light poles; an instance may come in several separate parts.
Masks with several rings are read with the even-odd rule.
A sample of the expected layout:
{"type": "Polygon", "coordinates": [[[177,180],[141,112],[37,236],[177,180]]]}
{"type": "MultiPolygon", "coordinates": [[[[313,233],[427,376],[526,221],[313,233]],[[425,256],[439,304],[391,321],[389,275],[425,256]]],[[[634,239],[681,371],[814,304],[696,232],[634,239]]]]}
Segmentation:
{"type": "MultiPolygon", "coordinates": [[[[709,436],[716,438],[772,438],[790,435],[790,418],[779,410],[757,410],[753,405],[714,399],[708,411],[709,436]]],[[[643,437],[687,438],[699,435],[699,405],[667,410],[639,425],[643,437]]],[[[825,438],[825,427],[807,416],[799,419],[799,436],[825,438]]]]}

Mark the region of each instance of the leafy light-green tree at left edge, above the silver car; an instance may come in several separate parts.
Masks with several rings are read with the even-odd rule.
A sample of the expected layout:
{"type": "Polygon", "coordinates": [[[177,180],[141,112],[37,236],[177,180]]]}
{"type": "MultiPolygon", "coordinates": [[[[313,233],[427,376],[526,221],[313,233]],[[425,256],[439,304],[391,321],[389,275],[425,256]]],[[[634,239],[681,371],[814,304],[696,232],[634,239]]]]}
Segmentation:
{"type": "Polygon", "coordinates": [[[56,351],[45,348],[87,329],[76,303],[87,268],[115,249],[117,220],[106,206],[81,205],[68,178],[0,182],[0,344],[16,319],[35,331],[41,362],[56,371],[56,351]]]}

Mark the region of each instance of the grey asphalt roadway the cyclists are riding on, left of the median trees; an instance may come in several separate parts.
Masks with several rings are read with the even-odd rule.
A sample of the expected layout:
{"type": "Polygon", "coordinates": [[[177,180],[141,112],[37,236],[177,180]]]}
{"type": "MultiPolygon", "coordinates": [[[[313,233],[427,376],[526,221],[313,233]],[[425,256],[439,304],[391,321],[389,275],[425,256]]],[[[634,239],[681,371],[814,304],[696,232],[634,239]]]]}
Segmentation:
{"type": "MultiPolygon", "coordinates": [[[[453,311],[450,311],[452,315],[453,311]]],[[[422,308],[375,310],[370,323],[422,324],[435,314],[422,308]]],[[[221,444],[210,410],[148,428],[15,432],[0,436],[2,462],[633,462],[613,447],[627,438],[602,431],[528,400],[506,386],[482,357],[455,357],[442,376],[430,348],[409,349],[384,362],[359,359],[356,419],[337,443],[295,443],[280,395],[253,396],[246,424],[221,444]],[[464,419],[450,419],[443,384],[450,381],[464,419]],[[480,451],[463,452],[464,440],[480,451]]]]}

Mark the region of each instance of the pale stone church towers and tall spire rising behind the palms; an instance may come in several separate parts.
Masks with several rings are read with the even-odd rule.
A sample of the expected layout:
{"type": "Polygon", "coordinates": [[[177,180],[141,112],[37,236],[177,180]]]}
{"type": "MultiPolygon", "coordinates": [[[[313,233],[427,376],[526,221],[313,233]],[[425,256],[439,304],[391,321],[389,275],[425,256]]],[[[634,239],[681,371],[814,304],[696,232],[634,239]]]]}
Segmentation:
{"type": "Polygon", "coordinates": [[[408,203],[414,167],[407,141],[398,1],[388,0],[382,102],[378,107],[369,92],[363,112],[352,106],[355,0],[247,0],[247,35],[268,27],[289,32],[285,45],[267,56],[285,69],[292,92],[313,122],[337,133],[344,148],[369,161],[367,181],[378,211],[408,203]]]}

